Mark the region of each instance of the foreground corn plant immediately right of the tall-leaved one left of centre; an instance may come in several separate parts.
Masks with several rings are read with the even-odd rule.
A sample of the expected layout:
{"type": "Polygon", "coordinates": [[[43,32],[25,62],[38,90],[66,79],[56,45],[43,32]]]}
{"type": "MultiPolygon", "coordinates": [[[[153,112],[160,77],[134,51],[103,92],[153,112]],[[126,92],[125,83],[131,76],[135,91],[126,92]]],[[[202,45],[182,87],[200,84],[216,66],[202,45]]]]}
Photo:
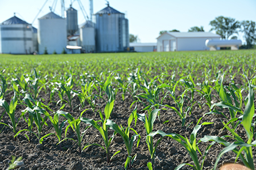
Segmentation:
{"type": "MultiPolygon", "coordinates": [[[[133,142],[135,142],[136,138],[138,137],[137,141],[137,147],[139,146],[139,141],[141,139],[141,135],[137,133],[133,128],[130,128],[131,122],[135,119],[135,125],[137,121],[137,108],[134,109],[134,111],[130,114],[130,117],[128,119],[128,127],[126,129],[123,129],[122,125],[121,128],[115,124],[112,120],[107,120],[106,126],[108,126],[110,129],[114,130],[116,133],[120,134],[123,138],[123,141],[125,142],[126,150],[128,153],[126,162],[125,162],[125,169],[128,167],[131,168],[131,165],[133,165],[134,160],[136,159],[137,154],[135,154],[133,157],[131,157],[131,148],[133,148],[133,142]],[[130,138],[130,130],[134,131],[134,135],[130,138]]],[[[134,126],[135,126],[134,125],[134,126]]]]}

